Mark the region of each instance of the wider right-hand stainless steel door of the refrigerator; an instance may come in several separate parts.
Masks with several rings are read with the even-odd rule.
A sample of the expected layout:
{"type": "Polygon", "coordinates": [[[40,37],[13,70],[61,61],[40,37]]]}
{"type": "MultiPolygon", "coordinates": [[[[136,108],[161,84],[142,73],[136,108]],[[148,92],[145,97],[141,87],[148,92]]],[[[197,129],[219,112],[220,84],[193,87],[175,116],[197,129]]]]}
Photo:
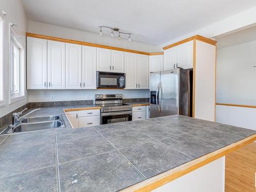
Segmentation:
{"type": "Polygon", "coordinates": [[[160,116],[179,114],[179,69],[161,72],[160,116]]]}

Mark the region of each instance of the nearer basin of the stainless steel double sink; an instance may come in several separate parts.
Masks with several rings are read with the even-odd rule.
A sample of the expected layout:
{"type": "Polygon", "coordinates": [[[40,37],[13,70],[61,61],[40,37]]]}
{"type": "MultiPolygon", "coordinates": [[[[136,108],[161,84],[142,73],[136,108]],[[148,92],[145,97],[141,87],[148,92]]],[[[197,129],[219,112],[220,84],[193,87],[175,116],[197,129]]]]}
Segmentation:
{"type": "Polygon", "coordinates": [[[45,130],[51,128],[61,127],[63,123],[60,120],[46,121],[46,122],[35,122],[35,123],[22,123],[15,126],[12,130],[13,133],[18,132],[29,132],[37,130],[45,130]]]}

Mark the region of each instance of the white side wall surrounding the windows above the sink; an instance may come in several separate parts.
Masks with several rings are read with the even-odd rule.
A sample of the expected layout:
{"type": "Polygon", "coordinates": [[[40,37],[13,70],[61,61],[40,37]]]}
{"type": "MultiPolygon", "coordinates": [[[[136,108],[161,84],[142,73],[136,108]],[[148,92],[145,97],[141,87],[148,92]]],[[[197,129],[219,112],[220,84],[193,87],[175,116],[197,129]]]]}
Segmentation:
{"type": "MultiPolygon", "coordinates": [[[[25,14],[22,2],[19,0],[1,0],[0,9],[4,10],[7,13],[5,17],[5,30],[4,30],[4,99],[5,106],[0,107],[0,117],[8,114],[9,112],[19,108],[27,102],[27,91],[25,89],[25,100],[17,101],[12,104],[9,104],[9,93],[10,93],[10,44],[9,44],[9,35],[10,28],[9,23],[16,23],[18,26],[14,27],[14,30],[17,35],[20,36],[20,41],[22,42],[26,50],[26,31],[28,29],[28,19],[25,14]]],[[[25,52],[25,63],[26,63],[26,52],[25,52]]],[[[24,66],[26,72],[26,65],[24,66]]],[[[1,74],[2,75],[2,74],[1,74]]],[[[26,79],[25,79],[26,86],[26,79]]]]}

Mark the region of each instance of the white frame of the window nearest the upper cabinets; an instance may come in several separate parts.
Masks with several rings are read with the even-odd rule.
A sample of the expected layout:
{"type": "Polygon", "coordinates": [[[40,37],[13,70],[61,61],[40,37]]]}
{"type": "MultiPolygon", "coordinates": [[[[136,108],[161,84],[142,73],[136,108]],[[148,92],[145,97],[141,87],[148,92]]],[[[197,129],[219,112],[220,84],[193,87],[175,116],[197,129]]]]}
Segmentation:
{"type": "Polygon", "coordinates": [[[16,35],[15,31],[13,30],[12,24],[10,24],[10,38],[9,38],[9,45],[10,45],[10,81],[9,81],[9,95],[10,95],[10,104],[24,100],[24,77],[25,77],[25,70],[24,70],[24,47],[22,45],[22,42],[20,42],[19,37],[16,35]],[[12,45],[15,45],[19,49],[19,92],[18,93],[12,93],[12,45]]]}

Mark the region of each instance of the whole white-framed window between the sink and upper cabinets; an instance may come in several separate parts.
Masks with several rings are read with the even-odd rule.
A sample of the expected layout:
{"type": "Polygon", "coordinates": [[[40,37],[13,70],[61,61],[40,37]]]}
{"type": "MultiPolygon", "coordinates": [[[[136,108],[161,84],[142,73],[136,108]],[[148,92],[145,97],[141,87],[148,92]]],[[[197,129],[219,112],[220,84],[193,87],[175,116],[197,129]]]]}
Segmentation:
{"type": "Polygon", "coordinates": [[[10,27],[10,103],[24,97],[24,49],[10,27]]]}

